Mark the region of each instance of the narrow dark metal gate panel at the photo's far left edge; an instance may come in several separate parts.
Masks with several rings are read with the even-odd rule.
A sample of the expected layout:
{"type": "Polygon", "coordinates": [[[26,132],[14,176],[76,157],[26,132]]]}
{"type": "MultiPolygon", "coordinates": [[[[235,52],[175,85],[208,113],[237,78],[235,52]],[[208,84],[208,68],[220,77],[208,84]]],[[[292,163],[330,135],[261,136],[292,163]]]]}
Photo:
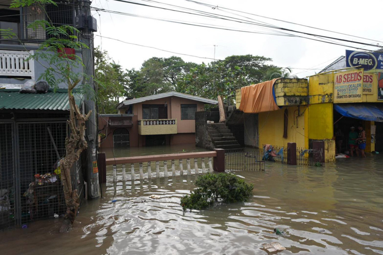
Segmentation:
{"type": "Polygon", "coordinates": [[[13,123],[0,123],[0,230],[16,223],[13,123]]]}

